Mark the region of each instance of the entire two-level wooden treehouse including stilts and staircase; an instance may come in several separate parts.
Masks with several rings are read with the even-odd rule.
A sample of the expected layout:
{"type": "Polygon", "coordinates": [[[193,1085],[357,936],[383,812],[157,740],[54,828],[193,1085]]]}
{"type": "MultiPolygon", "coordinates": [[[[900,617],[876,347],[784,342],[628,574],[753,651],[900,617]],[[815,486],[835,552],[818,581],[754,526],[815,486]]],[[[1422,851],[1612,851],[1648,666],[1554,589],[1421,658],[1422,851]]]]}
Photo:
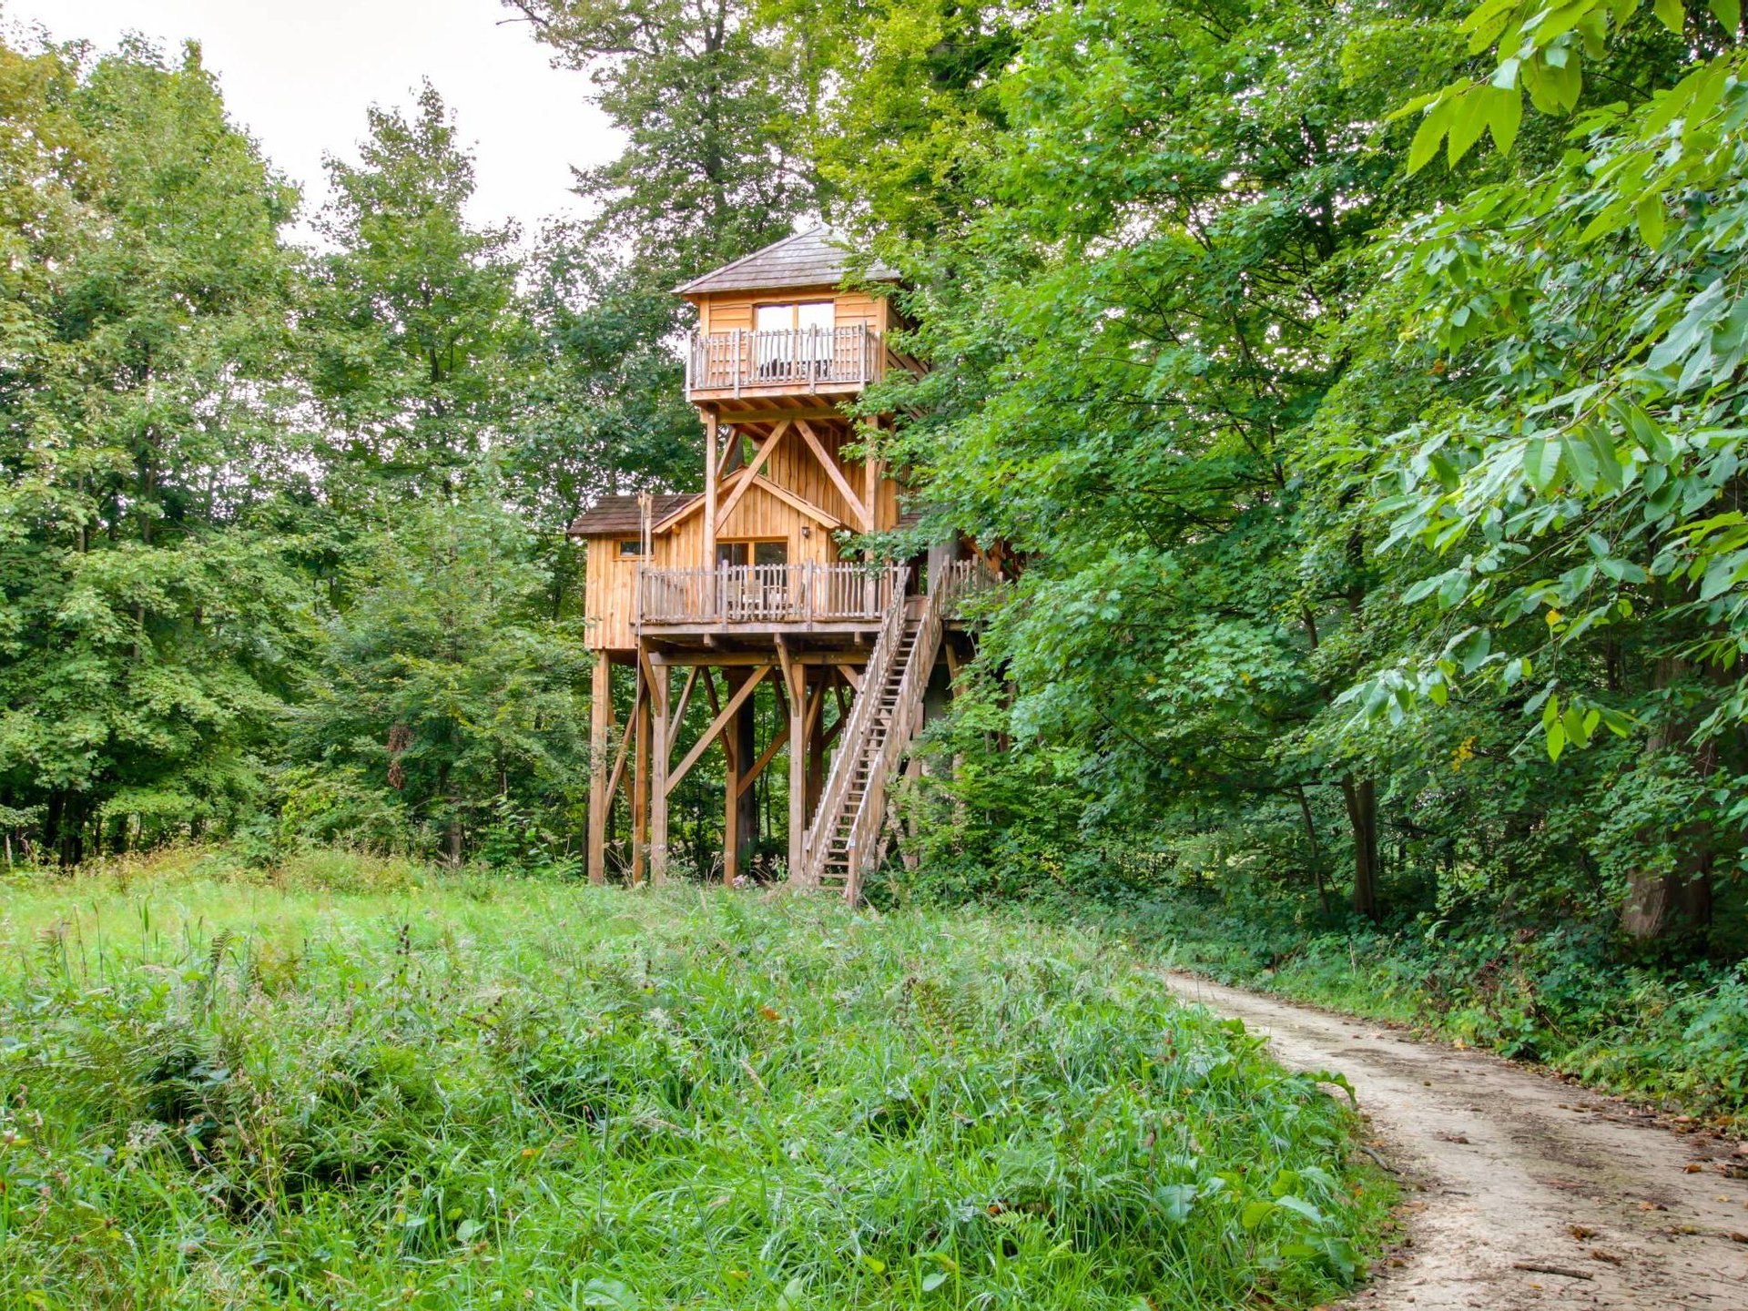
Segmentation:
{"type": "MultiPolygon", "coordinates": [[[[822,227],[676,288],[697,306],[685,390],[704,425],[704,489],[603,496],[570,526],[587,542],[594,881],[622,788],[629,876],[666,876],[669,801],[711,750],[725,760],[727,883],[759,839],[753,785],[780,759],[792,883],[855,900],[884,858],[888,785],[968,654],[954,601],[988,573],[956,545],[911,561],[846,549],[897,528],[900,507],[891,470],[848,454],[857,435],[841,407],[890,371],[921,367],[886,341],[891,302],[844,290],[846,269],[822,227]],[[635,680],[624,725],[615,668],[635,680]],[[780,706],[764,718],[787,724],[762,743],[760,696],[780,706]],[[687,741],[687,710],[706,704],[687,741]]],[[[879,266],[864,276],[891,280],[879,266]]]]}

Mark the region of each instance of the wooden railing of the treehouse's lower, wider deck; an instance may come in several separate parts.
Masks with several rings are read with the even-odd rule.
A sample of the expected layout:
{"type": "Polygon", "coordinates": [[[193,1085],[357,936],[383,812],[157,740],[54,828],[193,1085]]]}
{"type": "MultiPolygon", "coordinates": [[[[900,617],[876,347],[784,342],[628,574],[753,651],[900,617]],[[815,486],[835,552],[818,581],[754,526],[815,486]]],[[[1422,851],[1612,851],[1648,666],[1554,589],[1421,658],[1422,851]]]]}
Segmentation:
{"type": "Polygon", "coordinates": [[[638,570],[640,624],[876,621],[904,594],[902,572],[867,565],[724,565],[638,570]]]}

